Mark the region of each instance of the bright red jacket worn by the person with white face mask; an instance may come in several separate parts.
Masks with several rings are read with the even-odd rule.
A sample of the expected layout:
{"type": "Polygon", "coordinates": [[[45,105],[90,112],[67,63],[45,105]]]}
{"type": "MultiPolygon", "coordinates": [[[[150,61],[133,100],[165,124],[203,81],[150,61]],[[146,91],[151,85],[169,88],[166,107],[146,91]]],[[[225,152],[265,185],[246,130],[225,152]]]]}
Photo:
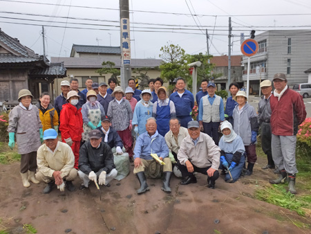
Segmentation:
{"type": "Polygon", "coordinates": [[[59,131],[62,134],[62,141],[69,137],[73,141],[81,141],[83,132],[83,120],[81,108],[71,105],[70,103],[64,104],[59,116],[59,131]]]}

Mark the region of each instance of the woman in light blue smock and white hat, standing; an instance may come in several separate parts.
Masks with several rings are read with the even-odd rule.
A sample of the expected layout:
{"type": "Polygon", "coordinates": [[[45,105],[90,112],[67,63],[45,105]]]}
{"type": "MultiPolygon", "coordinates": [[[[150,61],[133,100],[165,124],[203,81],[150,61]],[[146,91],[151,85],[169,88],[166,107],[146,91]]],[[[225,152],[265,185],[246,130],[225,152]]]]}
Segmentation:
{"type": "Polygon", "coordinates": [[[152,94],[150,89],[144,89],[140,93],[140,101],[137,103],[134,109],[132,124],[134,127],[135,134],[143,134],[146,132],[147,119],[152,117],[153,103],[152,94]]]}

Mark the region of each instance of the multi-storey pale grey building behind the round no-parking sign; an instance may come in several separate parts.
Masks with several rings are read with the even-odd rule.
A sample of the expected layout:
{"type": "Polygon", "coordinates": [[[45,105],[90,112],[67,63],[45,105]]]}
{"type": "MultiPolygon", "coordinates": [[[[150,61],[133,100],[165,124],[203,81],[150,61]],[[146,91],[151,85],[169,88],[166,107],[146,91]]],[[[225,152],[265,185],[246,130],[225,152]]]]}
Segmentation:
{"type": "MultiPolygon", "coordinates": [[[[269,30],[255,37],[258,53],[250,57],[249,93],[258,94],[261,80],[285,73],[288,84],[308,82],[305,70],[311,64],[311,30],[269,30]]],[[[247,60],[243,56],[243,81],[247,80],[247,60]]]]}

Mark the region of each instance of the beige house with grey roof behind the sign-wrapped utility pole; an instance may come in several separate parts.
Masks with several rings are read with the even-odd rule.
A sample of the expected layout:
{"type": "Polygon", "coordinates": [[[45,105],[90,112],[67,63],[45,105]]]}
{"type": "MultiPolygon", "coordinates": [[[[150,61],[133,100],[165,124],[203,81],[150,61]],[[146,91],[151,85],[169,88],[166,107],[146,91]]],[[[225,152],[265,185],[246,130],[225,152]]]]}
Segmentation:
{"type": "MultiPolygon", "coordinates": [[[[70,57],[51,57],[52,62],[64,62],[67,69],[68,77],[77,78],[79,80],[79,89],[85,88],[86,79],[91,78],[93,82],[107,82],[111,78],[111,74],[96,73],[97,69],[101,69],[102,62],[111,61],[115,63],[115,68],[121,68],[121,49],[120,46],[88,46],[73,44],[70,57]]],[[[131,68],[148,67],[147,75],[149,78],[157,78],[160,76],[160,71],[156,68],[160,66],[162,60],[157,59],[131,59],[131,68]]],[[[132,72],[132,77],[137,77],[137,73],[132,72]]],[[[60,91],[60,82],[55,82],[55,96],[58,96],[60,91]]]]}

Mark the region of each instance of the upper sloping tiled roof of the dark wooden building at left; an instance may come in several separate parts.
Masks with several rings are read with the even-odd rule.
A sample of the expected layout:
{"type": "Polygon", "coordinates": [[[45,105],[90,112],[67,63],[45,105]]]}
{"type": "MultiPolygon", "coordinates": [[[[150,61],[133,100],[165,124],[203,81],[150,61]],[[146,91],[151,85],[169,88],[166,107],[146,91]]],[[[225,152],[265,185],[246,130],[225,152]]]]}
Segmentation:
{"type": "Polygon", "coordinates": [[[35,52],[23,46],[17,38],[10,37],[6,33],[4,33],[0,28],[0,44],[7,46],[15,53],[18,53],[21,56],[25,57],[36,57],[35,52]]]}

